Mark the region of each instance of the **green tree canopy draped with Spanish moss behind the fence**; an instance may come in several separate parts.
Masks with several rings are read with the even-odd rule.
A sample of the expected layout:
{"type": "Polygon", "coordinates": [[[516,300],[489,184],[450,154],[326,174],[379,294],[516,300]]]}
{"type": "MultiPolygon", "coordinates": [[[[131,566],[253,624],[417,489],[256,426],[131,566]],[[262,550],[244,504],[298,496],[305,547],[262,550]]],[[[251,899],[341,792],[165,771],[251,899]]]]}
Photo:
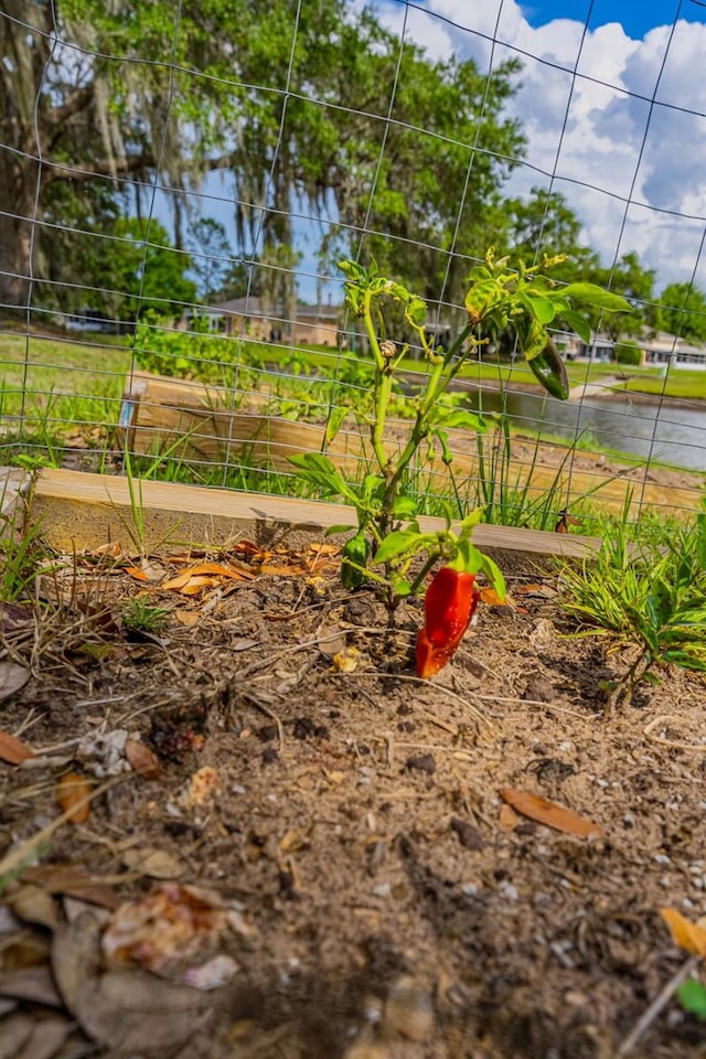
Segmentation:
{"type": "MultiPolygon", "coordinates": [[[[596,325],[650,322],[654,276],[635,255],[603,267],[560,194],[505,197],[525,152],[505,113],[515,62],[488,76],[434,61],[345,0],[6,0],[0,50],[3,306],[26,304],[32,284],[33,306],[90,297],[133,319],[137,284],[162,308],[249,291],[293,319],[299,215],[318,228],[322,272],[374,257],[452,302],[490,244],[528,263],[565,253],[557,278],[638,308],[596,325]],[[213,170],[234,246],[195,205],[213,170]]],[[[705,318],[685,328],[680,296],[661,319],[672,327],[676,306],[696,341],[705,318]]]]}

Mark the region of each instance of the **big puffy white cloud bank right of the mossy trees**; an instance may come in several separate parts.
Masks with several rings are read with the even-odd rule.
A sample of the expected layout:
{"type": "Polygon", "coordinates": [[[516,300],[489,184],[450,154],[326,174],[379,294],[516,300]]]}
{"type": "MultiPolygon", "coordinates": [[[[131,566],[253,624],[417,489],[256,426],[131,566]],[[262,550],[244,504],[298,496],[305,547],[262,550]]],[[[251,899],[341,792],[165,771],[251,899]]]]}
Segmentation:
{"type": "MultiPolygon", "coordinates": [[[[533,28],[515,0],[426,7],[428,13],[408,9],[407,34],[430,57],[453,50],[481,71],[491,54],[494,64],[515,55],[523,64],[510,113],[523,124],[528,164],[507,191],[526,194],[554,175],[552,186],[566,195],[605,264],[637,250],[656,270],[657,290],[691,279],[706,224],[706,118],[676,108],[704,110],[706,25],[680,21],[635,41],[618,22],[588,32],[568,19],[533,28]]],[[[403,7],[379,0],[377,8],[399,32],[403,7]]],[[[706,260],[697,271],[706,289],[706,260]]]]}

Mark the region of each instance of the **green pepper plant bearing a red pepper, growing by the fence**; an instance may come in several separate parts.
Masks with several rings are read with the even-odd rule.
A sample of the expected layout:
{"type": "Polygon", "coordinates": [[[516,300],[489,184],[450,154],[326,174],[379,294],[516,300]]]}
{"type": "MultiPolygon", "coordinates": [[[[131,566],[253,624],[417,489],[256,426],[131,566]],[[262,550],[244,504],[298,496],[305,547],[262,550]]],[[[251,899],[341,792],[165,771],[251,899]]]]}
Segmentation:
{"type": "MultiPolygon", "coordinates": [[[[564,260],[563,256],[545,257],[536,266],[526,267],[520,263],[517,268],[510,268],[507,258],[496,260],[491,247],[485,264],[471,270],[464,298],[467,315],[448,349],[437,346],[430,336],[426,324],[427,303],[422,298],[379,275],[374,263],[367,268],[351,260],[339,266],[345,276],[346,304],[362,320],[373,361],[374,406],[372,415],[364,417],[363,421],[370,432],[374,462],[362,482],[352,484],[323,453],[293,456],[290,461],[297,474],[314,485],[321,496],[341,498],[355,509],[356,527],[335,527],[339,532],[354,530],[343,550],[343,584],[356,588],[365,579],[374,581],[387,605],[391,623],[400,599],[421,592],[427,574],[439,560],[450,567],[456,580],[450,574],[443,574],[443,591],[432,593],[432,599],[438,595],[439,602],[427,609],[427,625],[430,623],[429,628],[434,630],[431,640],[435,642],[429,641],[428,650],[424,643],[417,645],[418,671],[422,675],[437,672],[458,646],[474,607],[470,586],[475,575],[482,573],[501,598],[504,598],[504,580],[498,566],[471,543],[473,527],[481,517],[479,511],[471,512],[453,530],[449,506],[443,530],[422,532],[417,518],[419,502],[407,484],[410,466],[420,456],[430,459],[435,449],[449,466],[453,454],[448,431],[452,428],[473,432],[484,429],[482,418],[457,407],[449,391],[469,357],[488,343],[492,333],[514,330],[520,350],[544,388],[555,397],[568,397],[566,368],[547,327],[561,320],[588,342],[590,327],[577,311],[577,304],[606,311],[629,311],[630,306],[623,298],[592,284],[559,286],[547,274],[564,260]],[[395,310],[397,318],[402,310],[406,329],[414,336],[426,365],[424,382],[416,396],[409,398],[414,415],[406,439],[394,454],[385,446],[386,426],[395,378],[409,352],[409,344],[388,336],[386,310],[389,309],[395,310]],[[422,561],[413,571],[418,556],[424,556],[422,561]],[[471,580],[462,582],[462,575],[471,576],[471,580]],[[442,612],[447,614],[446,619],[442,619],[442,612]],[[468,620],[461,620],[459,613],[466,614],[468,620]],[[438,627],[443,621],[450,632],[441,643],[443,638],[438,627]],[[461,624],[463,628],[459,633],[461,624]],[[419,661],[429,651],[436,661],[419,661]],[[440,661],[445,651],[443,661],[440,661]]],[[[349,413],[347,408],[334,409],[328,422],[327,441],[335,437],[349,413]]]]}

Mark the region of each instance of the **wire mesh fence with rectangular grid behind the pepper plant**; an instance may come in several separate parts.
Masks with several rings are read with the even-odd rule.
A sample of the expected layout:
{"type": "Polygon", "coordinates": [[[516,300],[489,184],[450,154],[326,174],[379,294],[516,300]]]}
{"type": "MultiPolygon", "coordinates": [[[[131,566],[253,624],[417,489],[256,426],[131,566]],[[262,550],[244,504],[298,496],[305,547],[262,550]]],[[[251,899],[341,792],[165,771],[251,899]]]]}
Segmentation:
{"type": "MultiPolygon", "coordinates": [[[[676,4],[652,32],[651,65],[644,47],[632,79],[603,72],[593,3],[561,46],[533,36],[503,0],[366,12],[243,2],[227,15],[125,3],[113,12],[119,29],[89,0],[75,7],[68,18],[60,3],[0,4],[4,462],[24,453],[286,493],[300,489],[288,457],[325,451],[360,480],[372,460],[372,365],[336,260],[376,258],[416,284],[445,349],[463,319],[463,278],[496,232],[530,267],[566,249],[576,275],[596,271],[586,231],[566,220],[575,207],[601,232],[603,278],[639,325],[619,333],[597,317],[590,341],[555,330],[567,402],[538,392],[516,349],[479,347],[453,400],[488,429],[450,429],[450,469],[442,451],[427,452],[411,484],[425,510],[451,498],[459,511],[481,504],[498,522],[542,528],[564,510],[590,521],[590,503],[619,507],[628,490],[634,517],[697,505],[706,117],[698,77],[677,76],[685,42],[704,29],[695,4],[676,4]],[[247,61],[233,20],[250,34],[247,61]],[[451,104],[467,108],[463,120],[441,113],[451,104]],[[589,106],[602,117],[581,153],[589,106]],[[542,136],[523,139],[523,120],[542,136]],[[681,168],[674,129],[688,154],[681,168]],[[670,164],[678,194],[655,184],[670,164]],[[651,270],[634,252],[654,240],[662,264],[651,270]],[[668,312],[653,287],[662,267],[668,312]]],[[[399,321],[388,327],[409,340],[399,321]]],[[[410,341],[391,450],[424,375],[418,354],[410,341]]]]}

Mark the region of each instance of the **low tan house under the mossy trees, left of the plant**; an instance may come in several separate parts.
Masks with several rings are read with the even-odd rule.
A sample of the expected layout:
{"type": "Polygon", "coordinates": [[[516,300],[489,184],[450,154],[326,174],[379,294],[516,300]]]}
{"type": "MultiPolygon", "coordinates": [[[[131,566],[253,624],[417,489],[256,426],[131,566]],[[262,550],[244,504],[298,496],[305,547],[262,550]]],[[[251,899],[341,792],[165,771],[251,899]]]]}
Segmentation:
{"type": "MultiPolygon", "coordinates": [[[[193,315],[186,314],[186,328],[193,315]]],[[[232,298],[200,309],[197,315],[208,321],[211,331],[233,338],[296,345],[336,345],[339,340],[336,306],[298,304],[295,320],[289,321],[267,311],[260,298],[232,298]]]]}

